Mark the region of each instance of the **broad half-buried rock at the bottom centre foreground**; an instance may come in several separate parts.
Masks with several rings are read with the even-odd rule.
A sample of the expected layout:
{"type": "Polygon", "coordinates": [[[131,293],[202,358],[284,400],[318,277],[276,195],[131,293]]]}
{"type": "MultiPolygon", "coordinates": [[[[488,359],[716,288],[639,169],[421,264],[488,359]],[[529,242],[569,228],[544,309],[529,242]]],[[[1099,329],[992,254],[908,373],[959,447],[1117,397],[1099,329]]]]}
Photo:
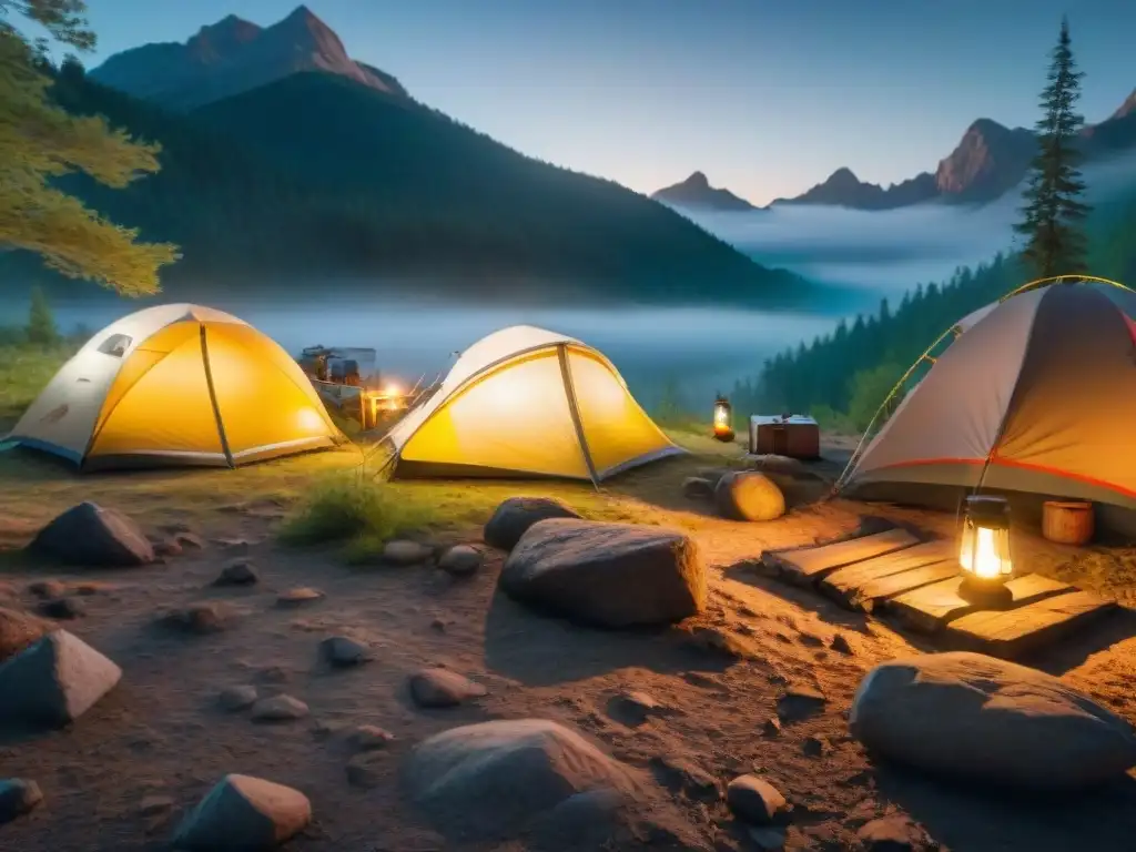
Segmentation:
{"type": "Polygon", "coordinates": [[[411,800],[438,828],[473,837],[518,833],[558,807],[570,807],[566,803],[579,794],[634,797],[641,787],[623,763],[545,719],[486,721],[436,734],[411,753],[404,778],[411,800]]]}

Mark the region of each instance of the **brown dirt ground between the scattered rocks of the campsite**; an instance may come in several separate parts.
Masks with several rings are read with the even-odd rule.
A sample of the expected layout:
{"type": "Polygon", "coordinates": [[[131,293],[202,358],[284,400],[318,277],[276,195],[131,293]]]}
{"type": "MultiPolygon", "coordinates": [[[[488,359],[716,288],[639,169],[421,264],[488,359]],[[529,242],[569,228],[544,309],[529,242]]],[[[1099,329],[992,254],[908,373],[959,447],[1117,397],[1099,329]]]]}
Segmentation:
{"type": "MultiPolygon", "coordinates": [[[[60,574],[16,560],[5,563],[0,591],[9,605],[33,609],[27,586],[34,580],[95,580],[93,593],[82,596],[85,615],[64,626],[118,662],[124,677],[72,728],[2,744],[0,776],[35,779],[45,801],[0,828],[0,850],[167,849],[181,815],[228,772],[287,784],[311,799],[315,821],[289,849],[457,849],[403,801],[400,762],[436,732],[524,717],[563,721],[651,772],[658,772],[660,761],[701,770],[721,784],[742,772],[761,772],[793,804],[788,850],[855,849],[859,826],[895,811],[910,815],[955,852],[1136,847],[1136,778],[1080,799],[1025,801],[943,786],[869,761],[846,730],[857,684],[879,661],[934,649],[745,565],[765,549],[847,535],[874,516],[941,532],[950,531],[953,518],[841,500],[809,503],[819,496],[809,486],[791,494],[802,504],[780,520],[720,520],[680,494],[684,476],[721,461],[720,450],[698,449],[695,457],[644,468],[599,494],[583,486],[508,483],[404,487],[441,488],[437,499],[452,506],[452,523],[425,534],[433,543],[479,541],[492,506],[510,494],[550,493],[590,517],[686,531],[710,566],[711,604],[700,623],[737,636],[752,650],[746,659],[693,646],[677,629],[605,633],[534,615],[495,593],[501,554],[492,551],[479,574],[456,579],[427,567],[352,569],[331,550],[281,546],[274,529],[289,501],[302,493],[314,471],[344,463],[342,453],[337,460],[325,454],[248,471],[98,478],[24,459],[0,461],[5,546],[18,546],[37,524],[82,499],[124,509],[148,529],[184,524],[206,541],[201,551],[131,570],[60,574]],[[260,583],[211,586],[237,554],[251,559],[260,583]],[[277,605],[278,593],[294,586],[316,587],[326,596],[298,608],[277,605]],[[164,609],[206,599],[224,599],[242,615],[206,636],[154,626],[164,609]],[[317,666],[317,646],[332,634],[368,641],[377,649],[376,660],[325,671],[317,666]],[[828,648],[837,634],[851,654],[828,648]],[[432,665],[485,684],[488,695],[448,710],[414,707],[407,677],[432,665]],[[300,699],[310,716],[264,725],[247,712],[222,710],[218,693],[242,684],[300,699]],[[765,736],[786,684],[819,688],[827,708],[786,725],[779,736],[765,736]],[[649,693],[670,712],[638,727],[623,724],[609,715],[609,701],[627,688],[649,693]],[[344,732],[358,725],[394,735],[371,788],[352,786],[345,772],[352,752],[344,732]],[[815,738],[819,747],[809,747],[817,746],[815,738]],[[143,804],[153,796],[168,797],[169,807],[143,804]]],[[[1062,549],[1026,533],[1019,538],[1016,544],[1034,570],[1134,602],[1136,551],[1062,549]]],[[[1134,620],[1136,612],[1126,608],[1059,653],[1030,662],[1136,721],[1134,620]]],[[[684,788],[673,772],[658,777],[708,849],[757,849],[717,796],[684,788]]]]}

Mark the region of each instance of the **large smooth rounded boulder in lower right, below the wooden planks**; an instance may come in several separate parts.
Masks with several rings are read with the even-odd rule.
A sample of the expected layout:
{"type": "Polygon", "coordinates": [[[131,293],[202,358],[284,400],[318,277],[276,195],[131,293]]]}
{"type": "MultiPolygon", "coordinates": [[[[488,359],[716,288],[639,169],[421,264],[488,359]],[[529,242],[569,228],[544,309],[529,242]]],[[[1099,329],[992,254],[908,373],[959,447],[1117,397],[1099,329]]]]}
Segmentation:
{"type": "Polygon", "coordinates": [[[1136,729],[1050,675],[968,652],[868,673],[849,725],[882,757],[929,772],[1069,791],[1136,766],[1136,729]]]}

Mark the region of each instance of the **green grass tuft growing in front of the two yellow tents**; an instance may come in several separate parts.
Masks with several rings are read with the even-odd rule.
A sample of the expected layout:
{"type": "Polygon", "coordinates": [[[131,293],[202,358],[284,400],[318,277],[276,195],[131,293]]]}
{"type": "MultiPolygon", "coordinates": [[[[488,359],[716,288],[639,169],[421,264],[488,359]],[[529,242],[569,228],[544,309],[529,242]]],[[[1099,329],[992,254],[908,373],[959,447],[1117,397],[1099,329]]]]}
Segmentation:
{"type": "Polygon", "coordinates": [[[350,561],[374,556],[391,538],[436,525],[436,506],[389,484],[341,471],[316,481],[281,529],[287,544],[346,544],[350,561]]]}

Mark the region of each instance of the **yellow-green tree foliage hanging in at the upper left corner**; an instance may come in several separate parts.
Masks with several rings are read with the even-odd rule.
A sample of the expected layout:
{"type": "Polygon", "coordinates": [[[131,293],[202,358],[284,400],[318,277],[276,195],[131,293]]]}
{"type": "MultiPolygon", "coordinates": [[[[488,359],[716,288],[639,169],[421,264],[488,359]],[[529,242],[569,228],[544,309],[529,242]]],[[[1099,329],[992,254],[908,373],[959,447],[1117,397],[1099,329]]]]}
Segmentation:
{"type": "MultiPolygon", "coordinates": [[[[133,142],[100,117],[68,115],[50,99],[45,41],[31,41],[11,12],[78,50],[94,47],[82,0],[0,0],[0,248],[40,254],[75,278],[127,294],[158,289],[158,269],[177,259],[173,245],[139,243],[59,189],[57,179],[84,172],[112,187],[158,170],[158,148],[133,142]]],[[[74,76],[76,62],[66,75],[74,76]]]]}

